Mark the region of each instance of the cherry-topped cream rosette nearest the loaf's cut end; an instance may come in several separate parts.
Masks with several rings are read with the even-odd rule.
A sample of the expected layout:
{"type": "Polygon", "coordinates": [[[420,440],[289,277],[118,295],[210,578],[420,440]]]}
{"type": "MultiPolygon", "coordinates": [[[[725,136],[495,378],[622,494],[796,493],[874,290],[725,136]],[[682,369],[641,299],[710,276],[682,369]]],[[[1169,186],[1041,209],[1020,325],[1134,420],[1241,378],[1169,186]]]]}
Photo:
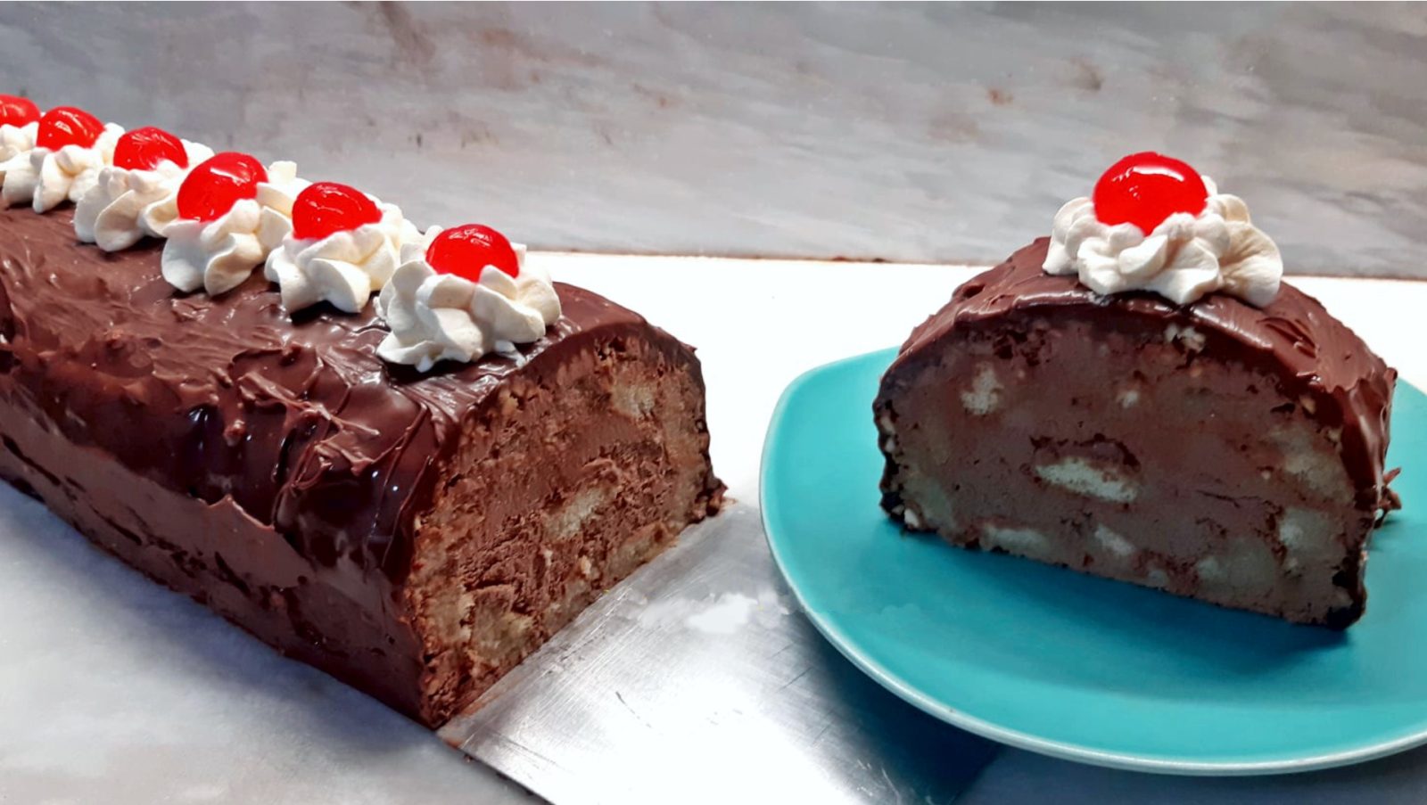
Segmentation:
{"type": "Polygon", "coordinates": [[[515,354],[561,317],[549,275],[527,264],[525,247],[479,224],[427,231],[430,245],[402,247],[402,264],[377,297],[391,328],[377,354],[431,371],[440,361],[469,363],[515,354]]]}

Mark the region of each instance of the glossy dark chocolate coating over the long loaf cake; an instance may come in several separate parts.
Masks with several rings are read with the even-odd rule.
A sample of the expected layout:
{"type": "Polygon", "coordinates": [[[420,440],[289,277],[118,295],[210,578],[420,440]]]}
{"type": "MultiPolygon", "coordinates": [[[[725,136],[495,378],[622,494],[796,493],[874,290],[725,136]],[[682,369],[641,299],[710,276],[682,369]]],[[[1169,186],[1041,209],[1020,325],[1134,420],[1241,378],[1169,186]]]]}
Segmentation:
{"type": "MultiPolygon", "coordinates": [[[[442,567],[448,550],[421,521],[448,465],[494,450],[482,422],[517,427],[529,415],[519,394],[582,383],[578,367],[629,348],[694,391],[699,404],[679,411],[694,421],[681,424],[704,428],[692,348],[577,287],[555,285],[564,315],[518,360],[420,374],[375,355],[385,330],[371,307],[323,305],[294,321],[261,271],[217,298],[186,295],[160,275],[160,248],[106,254],[76,241],[71,210],[0,210],[0,478],[147,575],[422,724],[459,702],[441,698],[450,674],[425,654],[430,634],[444,632],[412,608],[412,571],[442,567]]],[[[559,412],[557,430],[578,431],[588,405],[542,410],[559,412]]],[[[702,470],[692,494],[708,512],[681,517],[718,507],[706,447],[702,470]]]]}

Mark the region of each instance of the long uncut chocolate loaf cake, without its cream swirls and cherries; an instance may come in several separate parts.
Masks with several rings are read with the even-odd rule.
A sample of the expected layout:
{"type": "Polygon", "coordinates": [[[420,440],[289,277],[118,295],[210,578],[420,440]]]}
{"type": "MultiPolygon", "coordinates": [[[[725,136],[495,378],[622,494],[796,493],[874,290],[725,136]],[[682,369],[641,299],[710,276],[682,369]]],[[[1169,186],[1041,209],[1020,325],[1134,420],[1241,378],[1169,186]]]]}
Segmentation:
{"type": "Polygon", "coordinates": [[[73,216],[0,211],[0,477],[424,724],[719,505],[692,350],[596,294],[424,374],[364,298],[183,294],[73,216]]]}

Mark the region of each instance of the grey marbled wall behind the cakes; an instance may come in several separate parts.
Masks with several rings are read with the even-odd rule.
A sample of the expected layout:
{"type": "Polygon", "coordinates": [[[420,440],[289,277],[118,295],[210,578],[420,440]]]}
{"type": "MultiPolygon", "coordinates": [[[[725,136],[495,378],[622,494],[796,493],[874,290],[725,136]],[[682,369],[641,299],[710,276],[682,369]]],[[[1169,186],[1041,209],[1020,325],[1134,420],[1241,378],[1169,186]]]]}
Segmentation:
{"type": "Polygon", "coordinates": [[[535,247],[993,261],[1124,153],[1427,277],[1427,6],[17,4],[0,91],[535,247]]]}

